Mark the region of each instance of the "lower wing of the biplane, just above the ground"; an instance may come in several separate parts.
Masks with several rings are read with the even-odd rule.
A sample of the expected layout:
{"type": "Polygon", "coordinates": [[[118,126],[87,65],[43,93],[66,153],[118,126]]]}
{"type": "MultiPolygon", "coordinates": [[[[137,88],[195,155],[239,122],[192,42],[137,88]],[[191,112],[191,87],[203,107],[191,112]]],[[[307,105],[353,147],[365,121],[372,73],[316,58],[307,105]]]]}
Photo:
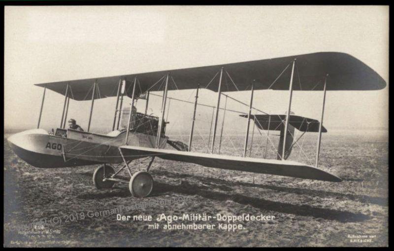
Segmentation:
{"type": "Polygon", "coordinates": [[[295,161],[257,159],[249,157],[243,158],[199,152],[147,148],[132,145],[124,145],[120,148],[125,155],[129,156],[157,156],[163,159],[195,163],[201,166],[220,169],[280,175],[303,179],[318,179],[334,182],[341,181],[341,179],[335,175],[295,161]]]}

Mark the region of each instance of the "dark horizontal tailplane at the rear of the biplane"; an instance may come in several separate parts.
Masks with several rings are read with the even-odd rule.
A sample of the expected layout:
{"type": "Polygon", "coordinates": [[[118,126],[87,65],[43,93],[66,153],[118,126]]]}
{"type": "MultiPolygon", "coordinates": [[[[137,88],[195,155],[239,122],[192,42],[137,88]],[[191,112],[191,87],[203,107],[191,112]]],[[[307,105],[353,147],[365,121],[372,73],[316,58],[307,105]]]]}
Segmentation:
{"type": "MultiPolygon", "coordinates": [[[[247,118],[247,114],[239,115],[247,118]]],[[[250,115],[250,119],[255,120],[256,125],[262,130],[280,131],[285,126],[286,115],[276,114],[257,114],[250,115]],[[256,119],[255,119],[256,118],[256,119]],[[268,127],[269,125],[269,127],[268,127]]],[[[319,132],[319,120],[306,118],[297,115],[290,115],[289,124],[301,132],[319,132]]],[[[327,133],[327,129],[323,126],[322,133],[327,133]]]]}

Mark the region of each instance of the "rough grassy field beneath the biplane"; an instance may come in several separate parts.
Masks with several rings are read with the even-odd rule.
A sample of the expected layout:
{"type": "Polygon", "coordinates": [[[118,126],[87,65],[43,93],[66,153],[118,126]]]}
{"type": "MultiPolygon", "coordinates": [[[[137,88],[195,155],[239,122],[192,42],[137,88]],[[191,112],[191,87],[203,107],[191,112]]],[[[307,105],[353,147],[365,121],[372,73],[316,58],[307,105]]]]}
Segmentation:
{"type": "MultiPolygon", "coordinates": [[[[308,139],[304,146],[314,151],[315,140],[308,139]]],[[[254,151],[261,156],[259,147],[254,151]]],[[[4,151],[6,247],[388,246],[388,138],[325,136],[320,168],[342,182],[156,159],[151,168],[154,190],[142,199],[131,197],[127,184],[96,189],[92,175],[97,166],[39,169],[19,159],[6,140],[4,151]],[[239,221],[244,229],[235,231],[166,230],[149,229],[146,221],[119,221],[119,212],[154,218],[161,214],[275,218],[239,221]]]]}

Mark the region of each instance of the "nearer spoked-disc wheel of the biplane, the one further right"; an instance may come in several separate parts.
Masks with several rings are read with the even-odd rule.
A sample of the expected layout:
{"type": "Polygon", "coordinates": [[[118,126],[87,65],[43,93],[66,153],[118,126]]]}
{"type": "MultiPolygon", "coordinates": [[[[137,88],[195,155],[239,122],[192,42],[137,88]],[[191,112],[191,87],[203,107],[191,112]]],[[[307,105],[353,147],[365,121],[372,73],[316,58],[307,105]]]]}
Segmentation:
{"type": "Polygon", "coordinates": [[[138,171],[130,179],[129,190],[134,197],[146,197],[153,189],[153,178],[148,172],[138,171]]]}

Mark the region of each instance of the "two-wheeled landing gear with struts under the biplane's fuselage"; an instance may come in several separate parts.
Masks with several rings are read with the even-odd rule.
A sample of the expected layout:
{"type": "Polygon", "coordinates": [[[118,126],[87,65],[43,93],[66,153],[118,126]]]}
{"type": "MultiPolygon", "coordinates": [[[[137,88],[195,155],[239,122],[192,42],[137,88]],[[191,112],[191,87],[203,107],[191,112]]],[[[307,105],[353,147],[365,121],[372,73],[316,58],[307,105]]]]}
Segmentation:
{"type": "Polygon", "coordinates": [[[152,166],[155,157],[153,156],[151,161],[146,168],[146,171],[137,171],[134,174],[131,173],[131,169],[129,167],[130,161],[126,161],[125,157],[121,150],[120,154],[122,155],[124,164],[123,166],[115,172],[115,169],[107,164],[104,164],[95,170],[93,174],[93,183],[95,184],[97,189],[103,188],[111,188],[115,182],[122,182],[129,184],[129,191],[132,196],[142,198],[147,197],[153,190],[153,178],[149,174],[149,169],[152,166]],[[128,173],[130,175],[130,180],[118,179],[116,176],[123,170],[127,168],[128,173]]]}

